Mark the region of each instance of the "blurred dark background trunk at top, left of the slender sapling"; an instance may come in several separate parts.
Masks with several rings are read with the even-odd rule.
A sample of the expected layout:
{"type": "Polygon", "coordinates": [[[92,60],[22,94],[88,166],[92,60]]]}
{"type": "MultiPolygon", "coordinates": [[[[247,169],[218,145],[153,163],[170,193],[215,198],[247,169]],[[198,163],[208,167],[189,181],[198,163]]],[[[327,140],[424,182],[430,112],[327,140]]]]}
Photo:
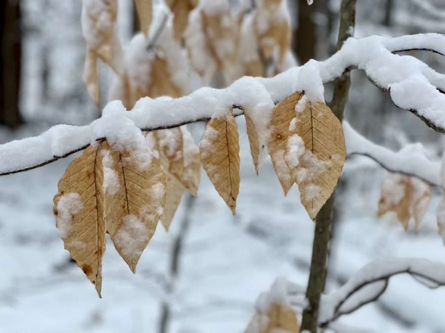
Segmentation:
{"type": "Polygon", "coordinates": [[[317,47],[317,25],[313,21],[316,12],[316,4],[308,4],[307,0],[297,0],[298,2],[298,23],[293,38],[293,50],[301,64],[305,64],[310,59],[314,59],[317,47]]]}

